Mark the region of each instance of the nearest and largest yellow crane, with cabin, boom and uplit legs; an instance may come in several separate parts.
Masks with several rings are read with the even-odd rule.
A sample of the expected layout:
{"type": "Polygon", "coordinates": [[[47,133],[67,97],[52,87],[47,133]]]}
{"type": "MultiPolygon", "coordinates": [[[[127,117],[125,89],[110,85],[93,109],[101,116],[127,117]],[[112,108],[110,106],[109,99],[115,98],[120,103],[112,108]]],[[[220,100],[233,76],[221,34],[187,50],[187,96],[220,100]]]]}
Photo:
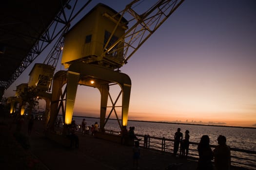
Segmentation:
{"type": "Polygon", "coordinates": [[[145,11],[140,9],[139,14],[135,7],[142,1],[133,0],[121,12],[100,3],[65,35],[61,64],[68,70],[58,71],[53,79],[49,129],[54,129],[60,110],[64,115],[64,125],[71,124],[78,85],[95,87],[100,92],[101,132],[104,132],[112,113],[115,113],[120,128],[127,125],[131,79],[119,68],[184,0],[158,0],[145,11]],[[62,90],[64,85],[66,87],[62,90]],[[116,101],[109,92],[111,85],[118,85],[121,89],[116,101]],[[111,106],[107,105],[108,97],[111,106]],[[117,106],[119,98],[122,102],[117,106]],[[111,111],[106,118],[108,107],[111,111]],[[117,107],[121,108],[121,122],[117,107]]]}

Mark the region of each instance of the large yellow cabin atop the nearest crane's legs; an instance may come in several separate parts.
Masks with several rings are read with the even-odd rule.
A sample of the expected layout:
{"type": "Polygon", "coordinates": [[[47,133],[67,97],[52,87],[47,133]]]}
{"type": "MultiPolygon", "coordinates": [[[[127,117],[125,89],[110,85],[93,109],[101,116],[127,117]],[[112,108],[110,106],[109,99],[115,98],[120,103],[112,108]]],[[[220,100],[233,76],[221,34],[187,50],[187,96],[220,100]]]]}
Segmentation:
{"type": "Polygon", "coordinates": [[[119,42],[128,21],[109,6],[99,3],[65,35],[61,64],[95,64],[110,69],[123,63],[124,43],[119,42]]]}

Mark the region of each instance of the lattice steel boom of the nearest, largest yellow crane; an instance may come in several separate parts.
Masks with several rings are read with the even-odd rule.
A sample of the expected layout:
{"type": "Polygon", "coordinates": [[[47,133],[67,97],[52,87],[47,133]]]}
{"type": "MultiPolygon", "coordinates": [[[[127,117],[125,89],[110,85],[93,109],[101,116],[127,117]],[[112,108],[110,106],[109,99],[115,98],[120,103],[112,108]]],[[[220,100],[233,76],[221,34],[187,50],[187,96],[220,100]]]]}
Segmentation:
{"type": "MultiPolygon", "coordinates": [[[[123,50],[123,60],[119,66],[127,63],[127,60],[138,50],[138,48],[160,27],[160,25],[181,5],[184,0],[158,0],[150,9],[138,14],[133,8],[136,7],[141,0],[133,0],[126,5],[125,9],[115,16],[108,16],[116,20],[116,27],[104,46],[101,54],[104,60],[107,54],[115,53],[123,50]],[[121,17],[118,17],[121,16],[121,17]],[[121,24],[121,18],[128,19],[129,25],[132,25],[118,40],[110,44],[110,39],[115,34],[118,25],[121,24]],[[107,48],[108,47],[108,48],[107,48]]],[[[141,10],[141,9],[140,9],[141,10]]]]}

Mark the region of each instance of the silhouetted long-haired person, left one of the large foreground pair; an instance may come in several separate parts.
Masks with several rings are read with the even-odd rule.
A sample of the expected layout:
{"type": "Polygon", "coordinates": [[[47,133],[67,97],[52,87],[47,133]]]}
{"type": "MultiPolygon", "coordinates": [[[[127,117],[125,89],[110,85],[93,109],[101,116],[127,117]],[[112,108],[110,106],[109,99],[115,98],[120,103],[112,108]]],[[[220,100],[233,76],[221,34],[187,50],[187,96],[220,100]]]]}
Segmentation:
{"type": "Polygon", "coordinates": [[[210,138],[208,135],[203,135],[197,147],[199,160],[197,170],[213,170],[212,160],[213,152],[210,147],[210,138]]]}

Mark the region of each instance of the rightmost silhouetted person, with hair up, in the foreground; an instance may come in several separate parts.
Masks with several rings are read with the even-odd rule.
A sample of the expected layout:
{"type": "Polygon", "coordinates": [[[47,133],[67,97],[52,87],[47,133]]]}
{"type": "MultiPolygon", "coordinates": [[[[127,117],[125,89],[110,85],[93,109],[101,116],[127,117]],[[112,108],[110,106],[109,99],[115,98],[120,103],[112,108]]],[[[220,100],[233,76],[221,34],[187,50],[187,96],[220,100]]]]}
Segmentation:
{"type": "Polygon", "coordinates": [[[230,170],[231,153],[230,148],[226,144],[225,136],[218,136],[218,146],[214,149],[214,164],[216,170],[230,170]]]}

